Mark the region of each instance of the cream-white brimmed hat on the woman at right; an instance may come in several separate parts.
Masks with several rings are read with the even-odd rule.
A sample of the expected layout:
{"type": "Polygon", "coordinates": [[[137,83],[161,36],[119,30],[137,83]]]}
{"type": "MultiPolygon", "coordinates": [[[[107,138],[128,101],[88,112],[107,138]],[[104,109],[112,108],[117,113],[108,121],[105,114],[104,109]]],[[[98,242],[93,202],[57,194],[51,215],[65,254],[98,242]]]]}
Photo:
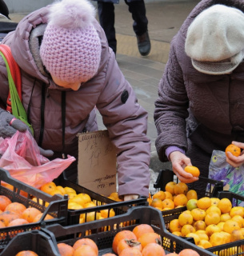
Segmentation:
{"type": "Polygon", "coordinates": [[[196,70],[230,73],[244,57],[244,14],[223,5],[203,10],[187,30],[185,50],[196,70]]]}

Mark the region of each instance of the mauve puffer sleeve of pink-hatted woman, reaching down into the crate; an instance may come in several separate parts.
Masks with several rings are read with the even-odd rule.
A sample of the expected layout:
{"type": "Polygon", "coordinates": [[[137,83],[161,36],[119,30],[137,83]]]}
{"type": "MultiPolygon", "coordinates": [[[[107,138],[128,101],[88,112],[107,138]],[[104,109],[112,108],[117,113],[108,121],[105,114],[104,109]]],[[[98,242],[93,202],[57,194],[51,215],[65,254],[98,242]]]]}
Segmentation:
{"type": "Polygon", "coordinates": [[[105,82],[97,108],[116,148],[118,194],[148,197],[150,139],[146,136],[147,112],[138,104],[134,90],[111,51],[104,70],[105,82]]]}

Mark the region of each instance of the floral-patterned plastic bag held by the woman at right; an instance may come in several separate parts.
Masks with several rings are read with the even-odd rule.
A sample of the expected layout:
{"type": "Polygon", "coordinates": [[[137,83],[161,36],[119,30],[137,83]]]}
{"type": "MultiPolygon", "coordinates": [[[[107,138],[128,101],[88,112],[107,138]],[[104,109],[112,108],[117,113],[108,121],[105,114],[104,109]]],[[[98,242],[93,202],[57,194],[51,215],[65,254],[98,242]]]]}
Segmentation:
{"type": "Polygon", "coordinates": [[[210,161],[209,178],[224,182],[224,190],[244,196],[244,166],[233,167],[226,162],[226,153],[214,150],[210,161]]]}

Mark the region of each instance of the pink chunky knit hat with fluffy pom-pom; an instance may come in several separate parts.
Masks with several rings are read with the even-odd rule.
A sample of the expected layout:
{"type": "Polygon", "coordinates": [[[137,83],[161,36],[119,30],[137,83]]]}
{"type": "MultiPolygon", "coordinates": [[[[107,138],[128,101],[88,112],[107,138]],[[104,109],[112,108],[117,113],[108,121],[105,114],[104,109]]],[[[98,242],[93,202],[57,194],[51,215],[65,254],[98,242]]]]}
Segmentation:
{"type": "Polygon", "coordinates": [[[98,71],[101,42],[88,0],[62,0],[50,6],[40,55],[46,70],[64,82],[86,82],[98,71]]]}

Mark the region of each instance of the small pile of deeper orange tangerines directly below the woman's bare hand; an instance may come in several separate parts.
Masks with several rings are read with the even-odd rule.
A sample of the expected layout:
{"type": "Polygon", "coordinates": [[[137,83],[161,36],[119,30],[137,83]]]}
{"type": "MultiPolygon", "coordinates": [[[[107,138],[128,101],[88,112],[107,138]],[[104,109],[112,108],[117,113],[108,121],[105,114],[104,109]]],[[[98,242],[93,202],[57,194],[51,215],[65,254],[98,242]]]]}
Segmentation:
{"type": "Polygon", "coordinates": [[[153,196],[150,195],[147,201],[158,210],[172,210],[186,206],[193,198],[198,199],[198,194],[195,190],[188,190],[186,183],[168,182],[165,191],[160,190],[153,196]]]}

